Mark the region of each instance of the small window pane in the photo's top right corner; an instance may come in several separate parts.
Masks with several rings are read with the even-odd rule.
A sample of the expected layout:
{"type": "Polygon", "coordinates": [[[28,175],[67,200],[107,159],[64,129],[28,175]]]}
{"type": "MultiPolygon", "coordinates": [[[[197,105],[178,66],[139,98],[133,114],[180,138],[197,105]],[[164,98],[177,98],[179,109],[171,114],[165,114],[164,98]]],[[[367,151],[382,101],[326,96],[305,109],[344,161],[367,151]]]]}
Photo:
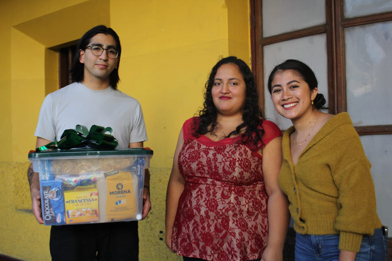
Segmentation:
{"type": "Polygon", "coordinates": [[[345,0],[343,5],[345,18],[392,11],[391,0],[345,0]]]}

